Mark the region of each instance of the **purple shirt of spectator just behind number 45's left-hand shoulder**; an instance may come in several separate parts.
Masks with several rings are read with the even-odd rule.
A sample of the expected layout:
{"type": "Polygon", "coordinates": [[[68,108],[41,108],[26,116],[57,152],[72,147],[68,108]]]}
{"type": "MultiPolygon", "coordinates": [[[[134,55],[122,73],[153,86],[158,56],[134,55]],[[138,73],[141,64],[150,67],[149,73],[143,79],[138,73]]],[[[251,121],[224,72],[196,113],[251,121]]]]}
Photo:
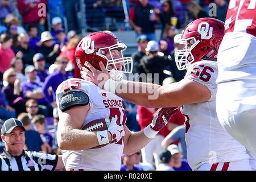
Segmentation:
{"type": "Polygon", "coordinates": [[[43,83],[43,93],[46,97],[46,100],[51,103],[52,101],[56,101],[56,90],[57,87],[63,82],[64,80],[68,80],[68,78],[73,78],[73,73],[67,72],[65,75],[63,75],[59,70],[55,71],[51,75],[49,75],[46,78],[46,81],[43,83]],[[52,97],[48,94],[48,88],[49,86],[52,87],[52,97]]]}

